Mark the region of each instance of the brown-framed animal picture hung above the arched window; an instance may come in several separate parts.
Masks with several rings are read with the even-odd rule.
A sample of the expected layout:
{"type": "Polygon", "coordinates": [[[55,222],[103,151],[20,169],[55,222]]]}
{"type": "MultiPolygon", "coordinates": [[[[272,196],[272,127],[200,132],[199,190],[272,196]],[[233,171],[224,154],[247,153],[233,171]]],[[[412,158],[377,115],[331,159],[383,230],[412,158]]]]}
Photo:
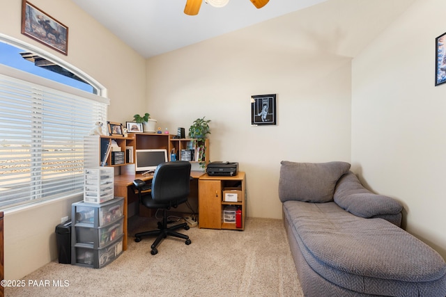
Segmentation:
{"type": "Polygon", "coordinates": [[[68,27],[22,0],[22,34],[68,55],[68,27]]]}

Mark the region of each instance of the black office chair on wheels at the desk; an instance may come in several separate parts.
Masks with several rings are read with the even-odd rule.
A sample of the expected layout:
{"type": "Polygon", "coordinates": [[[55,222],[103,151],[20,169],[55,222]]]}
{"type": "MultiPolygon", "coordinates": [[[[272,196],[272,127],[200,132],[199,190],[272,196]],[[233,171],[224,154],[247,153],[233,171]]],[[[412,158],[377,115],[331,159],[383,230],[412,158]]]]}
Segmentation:
{"type": "Polygon", "coordinates": [[[187,223],[167,227],[167,210],[186,202],[190,193],[190,163],[187,161],[161,163],[155,170],[151,192],[146,193],[147,195],[143,193],[144,190],[148,189],[143,181],[135,179],[133,183],[138,189],[141,204],[148,208],[164,209],[162,223],[158,222],[158,230],[137,233],[134,235],[134,241],[141,241],[143,236],[157,235],[157,239],[151,246],[152,255],[157,254],[158,244],[168,235],[186,239],[186,244],[190,245],[192,241],[190,241],[189,236],[175,231],[182,227],[189,230],[187,223]]]}

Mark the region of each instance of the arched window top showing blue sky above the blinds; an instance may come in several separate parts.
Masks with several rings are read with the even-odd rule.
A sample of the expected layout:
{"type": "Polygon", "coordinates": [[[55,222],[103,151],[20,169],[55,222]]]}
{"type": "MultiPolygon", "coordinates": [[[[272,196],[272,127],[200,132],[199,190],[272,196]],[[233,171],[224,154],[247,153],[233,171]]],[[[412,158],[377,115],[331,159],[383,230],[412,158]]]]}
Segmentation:
{"type": "Polygon", "coordinates": [[[100,83],[38,48],[0,34],[0,53],[0,64],[106,97],[105,88],[100,83]]]}

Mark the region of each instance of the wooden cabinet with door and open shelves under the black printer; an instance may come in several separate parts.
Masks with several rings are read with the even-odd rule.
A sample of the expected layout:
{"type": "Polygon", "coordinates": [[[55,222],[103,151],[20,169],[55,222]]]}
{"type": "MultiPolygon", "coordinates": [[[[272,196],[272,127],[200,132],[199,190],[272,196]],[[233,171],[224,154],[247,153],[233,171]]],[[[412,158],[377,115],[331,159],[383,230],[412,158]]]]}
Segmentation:
{"type": "Polygon", "coordinates": [[[233,177],[216,177],[207,174],[202,175],[198,181],[199,199],[199,227],[209,229],[245,230],[246,219],[246,177],[245,172],[238,172],[233,177]],[[241,202],[223,201],[224,188],[240,185],[242,191],[241,202]],[[236,224],[224,223],[222,212],[224,207],[234,205],[242,210],[242,227],[236,224]]]}

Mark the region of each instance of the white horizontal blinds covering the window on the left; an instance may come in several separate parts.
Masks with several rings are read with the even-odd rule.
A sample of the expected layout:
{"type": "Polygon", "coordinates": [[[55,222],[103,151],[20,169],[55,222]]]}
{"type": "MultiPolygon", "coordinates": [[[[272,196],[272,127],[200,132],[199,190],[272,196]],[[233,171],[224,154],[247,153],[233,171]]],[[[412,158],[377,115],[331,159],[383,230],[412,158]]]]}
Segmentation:
{"type": "Polygon", "coordinates": [[[84,136],[107,120],[108,99],[20,75],[0,74],[0,209],[82,193],[84,136]]]}

